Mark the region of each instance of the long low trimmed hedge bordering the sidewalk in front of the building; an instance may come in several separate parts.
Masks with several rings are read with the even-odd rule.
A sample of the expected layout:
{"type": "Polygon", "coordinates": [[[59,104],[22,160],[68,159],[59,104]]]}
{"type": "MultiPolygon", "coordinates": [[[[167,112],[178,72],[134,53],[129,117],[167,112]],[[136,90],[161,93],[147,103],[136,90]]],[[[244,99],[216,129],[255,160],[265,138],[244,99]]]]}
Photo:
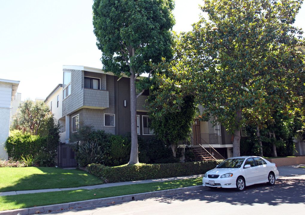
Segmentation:
{"type": "Polygon", "coordinates": [[[169,164],[135,164],[108,167],[90,164],[87,170],[92,175],[104,179],[106,183],[161,179],[187,175],[204,174],[220,164],[222,160],[169,164]]]}

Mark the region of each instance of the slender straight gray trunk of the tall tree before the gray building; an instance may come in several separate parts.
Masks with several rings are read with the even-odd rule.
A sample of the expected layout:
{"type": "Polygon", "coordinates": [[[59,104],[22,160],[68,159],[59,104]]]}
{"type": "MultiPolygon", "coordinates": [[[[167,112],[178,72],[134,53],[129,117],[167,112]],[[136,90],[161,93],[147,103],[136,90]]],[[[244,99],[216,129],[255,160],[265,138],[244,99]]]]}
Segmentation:
{"type": "Polygon", "coordinates": [[[135,90],[135,73],[131,70],[130,76],[130,115],[131,115],[131,151],[128,164],[139,163],[138,133],[137,133],[137,95],[135,90]]]}

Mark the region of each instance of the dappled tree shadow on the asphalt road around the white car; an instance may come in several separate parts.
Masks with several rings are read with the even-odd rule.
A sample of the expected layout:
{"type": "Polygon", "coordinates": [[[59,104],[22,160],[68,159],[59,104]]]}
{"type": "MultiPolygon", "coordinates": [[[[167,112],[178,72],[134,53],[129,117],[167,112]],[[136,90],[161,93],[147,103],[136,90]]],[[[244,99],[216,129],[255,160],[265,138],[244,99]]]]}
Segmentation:
{"type": "Polygon", "coordinates": [[[235,189],[206,189],[156,199],[158,202],[170,204],[173,200],[200,200],[205,203],[224,202],[231,205],[268,204],[277,206],[282,203],[305,203],[304,179],[278,179],[274,186],[266,183],[246,187],[242,192],[235,189]]]}

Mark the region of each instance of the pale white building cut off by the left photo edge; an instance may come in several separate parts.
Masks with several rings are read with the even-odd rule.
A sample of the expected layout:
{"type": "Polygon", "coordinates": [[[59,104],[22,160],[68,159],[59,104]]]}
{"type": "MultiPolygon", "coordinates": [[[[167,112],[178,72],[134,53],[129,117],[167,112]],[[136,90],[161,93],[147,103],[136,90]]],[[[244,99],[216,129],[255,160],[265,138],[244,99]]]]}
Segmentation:
{"type": "Polygon", "coordinates": [[[11,102],[15,98],[20,81],[0,79],[0,159],[8,159],[4,143],[9,136],[11,102]]]}

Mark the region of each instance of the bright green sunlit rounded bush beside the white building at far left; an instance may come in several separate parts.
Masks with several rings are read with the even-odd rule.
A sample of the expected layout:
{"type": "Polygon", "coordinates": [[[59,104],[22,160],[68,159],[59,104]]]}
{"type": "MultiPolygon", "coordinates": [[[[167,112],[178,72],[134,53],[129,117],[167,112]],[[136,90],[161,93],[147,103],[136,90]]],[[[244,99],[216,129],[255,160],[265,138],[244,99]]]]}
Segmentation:
{"type": "Polygon", "coordinates": [[[9,158],[19,159],[22,155],[38,154],[43,145],[43,139],[38,135],[31,135],[28,132],[13,130],[5,141],[5,148],[9,158]]]}

